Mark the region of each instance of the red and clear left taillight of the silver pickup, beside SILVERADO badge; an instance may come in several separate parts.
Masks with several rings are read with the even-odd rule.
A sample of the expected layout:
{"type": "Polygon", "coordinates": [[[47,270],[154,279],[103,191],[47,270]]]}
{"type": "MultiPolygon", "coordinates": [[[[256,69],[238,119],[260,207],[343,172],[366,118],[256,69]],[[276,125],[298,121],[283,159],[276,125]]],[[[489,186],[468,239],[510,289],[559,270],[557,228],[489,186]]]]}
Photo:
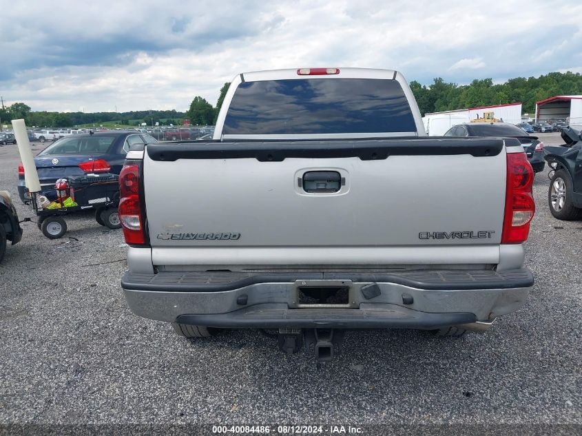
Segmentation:
{"type": "Polygon", "coordinates": [[[118,214],[128,245],[147,245],[145,211],[140,191],[141,160],[127,160],[119,174],[118,214]]]}

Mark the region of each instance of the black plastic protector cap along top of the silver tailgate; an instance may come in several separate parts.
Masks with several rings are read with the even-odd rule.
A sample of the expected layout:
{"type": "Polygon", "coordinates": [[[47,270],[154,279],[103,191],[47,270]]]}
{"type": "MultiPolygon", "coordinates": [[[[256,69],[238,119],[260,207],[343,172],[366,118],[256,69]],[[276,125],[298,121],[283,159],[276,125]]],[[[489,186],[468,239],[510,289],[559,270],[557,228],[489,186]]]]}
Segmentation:
{"type": "Polygon", "coordinates": [[[417,136],[382,139],[326,139],[322,141],[232,141],[208,143],[157,143],[146,147],[152,160],[240,159],[281,162],[285,158],[349,158],[382,160],[388,156],[452,155],[497,156],[506,145],[520,145],[515,138],[449,138],[417,136]]]}

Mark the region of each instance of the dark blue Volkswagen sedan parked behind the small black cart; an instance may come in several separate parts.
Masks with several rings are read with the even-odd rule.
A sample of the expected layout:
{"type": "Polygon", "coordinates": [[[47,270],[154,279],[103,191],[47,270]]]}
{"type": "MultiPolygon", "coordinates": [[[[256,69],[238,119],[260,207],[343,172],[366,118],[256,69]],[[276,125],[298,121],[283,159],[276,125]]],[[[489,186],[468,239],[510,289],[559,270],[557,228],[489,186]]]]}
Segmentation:
{"type": "MultiPolygon", "coordinates": [[[[110,172],[119,174],[125,154],[134,144],[156,143],[152,136],[138,132],[103,132],[76,134],[52,143],[34,158],[44,196],[54,200],[54,183],[59,178],[85,173],[110,172]]],[[[18,194],[25,198],[24,167],[18,167],[18,194]]]]}

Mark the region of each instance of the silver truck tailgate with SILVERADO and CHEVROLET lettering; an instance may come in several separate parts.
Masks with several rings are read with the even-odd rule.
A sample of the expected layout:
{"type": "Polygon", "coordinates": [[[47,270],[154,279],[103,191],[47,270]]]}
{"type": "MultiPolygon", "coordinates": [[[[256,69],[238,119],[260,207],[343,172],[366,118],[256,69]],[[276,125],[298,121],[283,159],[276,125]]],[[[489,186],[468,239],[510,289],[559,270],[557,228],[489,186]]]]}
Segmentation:
{"type": "Polygon", "coordinates": [[[501,139],[149,145],[143,171],[154,264],[499,256],[501,139]]]}

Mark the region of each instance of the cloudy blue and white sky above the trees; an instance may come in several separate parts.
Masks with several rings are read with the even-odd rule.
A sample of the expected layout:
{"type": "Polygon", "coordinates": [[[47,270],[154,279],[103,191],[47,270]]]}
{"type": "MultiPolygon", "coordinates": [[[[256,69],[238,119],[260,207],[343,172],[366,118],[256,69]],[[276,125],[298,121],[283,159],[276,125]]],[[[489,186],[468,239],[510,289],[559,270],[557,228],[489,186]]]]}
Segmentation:
{"type": "Polygon", "coordinates": [[[582,73],[582,1],[0,0],[0,96],[58,112],[216,105],[240,72],[399,70],[424,85],[582,73]]]}

